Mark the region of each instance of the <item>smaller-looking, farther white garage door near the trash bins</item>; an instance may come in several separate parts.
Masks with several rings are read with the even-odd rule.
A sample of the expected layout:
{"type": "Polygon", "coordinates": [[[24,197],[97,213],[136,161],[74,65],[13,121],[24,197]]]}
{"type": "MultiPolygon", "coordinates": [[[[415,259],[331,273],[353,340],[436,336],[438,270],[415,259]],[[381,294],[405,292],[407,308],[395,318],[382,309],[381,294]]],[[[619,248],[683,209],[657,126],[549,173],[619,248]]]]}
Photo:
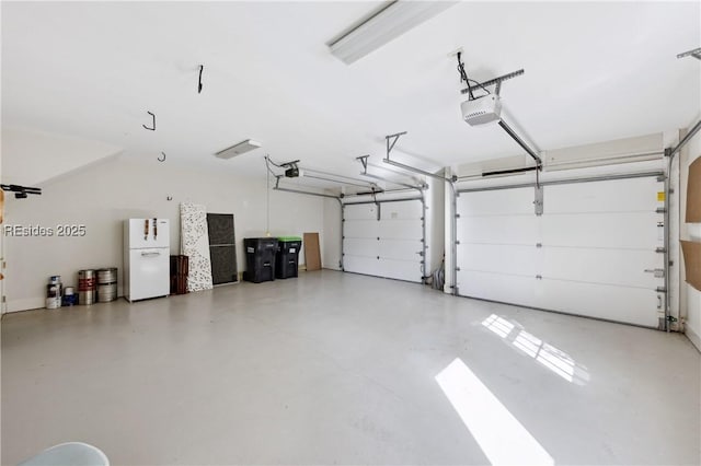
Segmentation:
{"type": "Polygon", "coordinates": [[[343,207],[343,270],[421,282],[423,247],[421,200],[343,207]]]}

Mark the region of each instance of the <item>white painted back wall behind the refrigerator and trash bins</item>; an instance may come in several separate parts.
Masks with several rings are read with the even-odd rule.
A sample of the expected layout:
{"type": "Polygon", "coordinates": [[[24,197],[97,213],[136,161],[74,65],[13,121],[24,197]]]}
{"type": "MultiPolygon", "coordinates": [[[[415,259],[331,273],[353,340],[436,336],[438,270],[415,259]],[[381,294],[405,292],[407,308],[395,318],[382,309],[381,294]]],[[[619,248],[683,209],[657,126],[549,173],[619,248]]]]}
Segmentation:
{"type": "MultiPolygon", "coordinates": [[[[3,228],[22,224],[55,229],[57,224],[84,224],[87,234],[83,237],[5,235],[4,291],[10,312],[43,307],[45,286],[51,275],[60,275],[65,286],[77,286],[79,269],[118,267],[122,272],[124,219],[170,219],[171,253],[177,254],[180,202],[202,203],[210,212],[233,213],[239,271],[244,270],[243,238],[263,236],[266,232],[264,179],[251,180],[230,173],[160,163],[150,156],[140,161],[118,155],[42,187],[42,196],[7,199],[3,228]],[[168,196],[173,200],[166,200],[168,196]]],[[[321,251],[326,251],[322,198],[271,191],[269,199],[269,231],[274,236],[320,232],[321,251]]],[[[323,254],[322,261],[330,263],[323,254]]],[[[303,263],[303,251],[300,263],[303,263]]]]}

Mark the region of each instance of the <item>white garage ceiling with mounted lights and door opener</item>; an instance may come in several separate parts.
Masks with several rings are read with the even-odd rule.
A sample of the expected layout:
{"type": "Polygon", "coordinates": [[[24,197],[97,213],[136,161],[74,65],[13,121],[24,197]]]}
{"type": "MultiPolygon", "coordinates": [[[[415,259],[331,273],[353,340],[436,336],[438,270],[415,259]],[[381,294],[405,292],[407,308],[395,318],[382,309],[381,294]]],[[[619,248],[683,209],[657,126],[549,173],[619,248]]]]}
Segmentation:
{"type": "Polygon", "coordinates": [[[458,47],[470,78],[526,70],[502,97],[540,150],[700,113],[701,62],[676,58],[701,46],[699,2],[462,2],[350,66],[333,57],[325,43],[378,4],[3,1],[2,125],[232,174],[262,175],[268,153],[356,176],[399,131],[392,158],[425,168],[522,153],[462,123],[458,47]],[[263,149],[212,155],[248,138],[263,149]]]}

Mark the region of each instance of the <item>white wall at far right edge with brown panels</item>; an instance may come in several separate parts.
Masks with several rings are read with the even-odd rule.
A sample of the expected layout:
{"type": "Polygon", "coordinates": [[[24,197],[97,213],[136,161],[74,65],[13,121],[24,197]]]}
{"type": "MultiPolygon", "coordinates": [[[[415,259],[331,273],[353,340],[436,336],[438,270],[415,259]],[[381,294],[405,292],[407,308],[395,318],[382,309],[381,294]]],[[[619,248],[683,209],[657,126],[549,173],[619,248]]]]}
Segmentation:
{"type": "MultiPolygon", "coordinates": [[[[701,117],[701,116],[700,116],[701,117]]],[[[698,121],[696,118],[694,121],[698,121]]],[[[680,189],[679,203],[681,217],[679,220],[679,236],[681,240],[701,242],[701,223],[686,223],[685,212],[687,210],[687,182],[689,178],[689,165],[701,156],[701,132],[689,141],[679,155],[680,165],[680,189]]],[[[685,333],[693,345],[701,351],[701,291],[693,289],[685,281],[683,257],[681,257],[680,268],[680,305],[681,315],[686,315],[685,333]]]]}

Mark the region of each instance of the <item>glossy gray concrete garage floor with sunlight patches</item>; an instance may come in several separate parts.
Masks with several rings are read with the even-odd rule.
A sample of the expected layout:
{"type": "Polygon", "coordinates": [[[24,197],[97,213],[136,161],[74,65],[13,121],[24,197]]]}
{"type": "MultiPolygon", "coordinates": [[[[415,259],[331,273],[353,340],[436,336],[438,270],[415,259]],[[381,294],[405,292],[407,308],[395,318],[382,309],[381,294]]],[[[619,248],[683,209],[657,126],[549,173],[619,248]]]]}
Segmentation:
{"type": "Polygon", "coordinates": [[[33,311],[2,319],[2,464],[66,441],[115,465],[528,463],[514,421],[555,464],[699,464],[700,366],[681,335],[326,270],[33,311]]]}

